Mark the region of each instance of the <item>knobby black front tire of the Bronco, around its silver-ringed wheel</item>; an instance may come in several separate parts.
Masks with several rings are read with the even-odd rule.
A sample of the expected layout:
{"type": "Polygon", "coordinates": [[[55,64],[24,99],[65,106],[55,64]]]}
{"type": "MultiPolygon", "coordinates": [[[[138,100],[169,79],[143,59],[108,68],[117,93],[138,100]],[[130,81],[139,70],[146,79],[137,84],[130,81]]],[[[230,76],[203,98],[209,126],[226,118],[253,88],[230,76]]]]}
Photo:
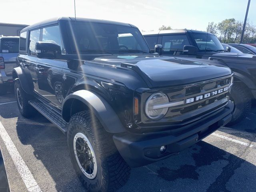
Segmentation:
{"type": "Polygon", "coordinates": [[[102,124],[90,111],[74,114],[68,126],[68,148],[70,159],[84,187],[91,192],[114,192],[121,188],[130,176],[130,168],[120,156],[112,134],[106,132],[102,124]],[[87,178],[78,165],[74,152],[74,137],[84,134],[96,156],[97,174],[94,179],[87,178]]]}

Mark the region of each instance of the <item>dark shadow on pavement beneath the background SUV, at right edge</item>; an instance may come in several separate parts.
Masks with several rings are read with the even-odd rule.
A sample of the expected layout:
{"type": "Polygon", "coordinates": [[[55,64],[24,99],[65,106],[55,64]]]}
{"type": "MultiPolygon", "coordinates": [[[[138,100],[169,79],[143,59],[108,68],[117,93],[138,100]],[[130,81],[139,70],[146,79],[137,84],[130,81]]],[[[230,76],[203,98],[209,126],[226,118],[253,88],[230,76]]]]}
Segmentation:
{"type": "Polygon", "coordinates": [[[249,141],[254,141],[256,138],[256,107],[252,108],[251,112],[241,122],[232,126],[224,126],[219,129],[227,134],[236,137],[244,138],[249,141]]]}

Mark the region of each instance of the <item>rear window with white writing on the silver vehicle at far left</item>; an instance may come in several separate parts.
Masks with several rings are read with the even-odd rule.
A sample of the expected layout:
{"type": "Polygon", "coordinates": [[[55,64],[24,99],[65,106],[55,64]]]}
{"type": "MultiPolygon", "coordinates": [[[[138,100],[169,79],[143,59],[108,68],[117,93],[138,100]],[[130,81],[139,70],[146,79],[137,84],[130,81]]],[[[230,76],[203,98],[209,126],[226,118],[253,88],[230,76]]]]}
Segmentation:
{"type": "Polygon", "coordinates": [[[19,39],[18,38],[2,38],[0,45],[0,52],[2,53],[18,53],[19,39]]]}

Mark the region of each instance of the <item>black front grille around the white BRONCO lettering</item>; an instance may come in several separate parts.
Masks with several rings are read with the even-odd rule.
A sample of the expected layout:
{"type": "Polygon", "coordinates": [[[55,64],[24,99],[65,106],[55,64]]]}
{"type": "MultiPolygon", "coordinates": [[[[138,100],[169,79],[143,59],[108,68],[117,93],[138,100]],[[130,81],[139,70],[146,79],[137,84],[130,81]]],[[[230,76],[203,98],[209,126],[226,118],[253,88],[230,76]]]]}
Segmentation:
{"type": "MultiPolygon", "coordinates": [[[[165,93],[170,102],[184,101],[183,105],[170,107],[164,118],[160,120],[150,120],[147,118],[145,112],[142,113],[140,126],[159,125],[179,125],[186,124],[186,122],[196,121],[205,114],[210,114],[214,110],[223,108],[229,100],[229,88],[232,75],[215,80],[189,84],[185,86],[178,86],[174,88],[164,88],[161,91],[165,93]],[[228,90],[224,91],[224,88],[228,90]],[[223,92],[218,92],[222,90],[223,92]],[[213,94],[216,93],[217,94],[213,94]],[[199,96],[208,97],[200,98],[199,96]],[[197,100],[197,97],[200,99],[197,100]],[[188,102],[187,99],[194,98],[193,102],[188,102]]],[[[143,94],[143,100],[146,100],[152,93],[143,94]]],[[[142,103],[142,105],[144,105],[142,103]]]]}

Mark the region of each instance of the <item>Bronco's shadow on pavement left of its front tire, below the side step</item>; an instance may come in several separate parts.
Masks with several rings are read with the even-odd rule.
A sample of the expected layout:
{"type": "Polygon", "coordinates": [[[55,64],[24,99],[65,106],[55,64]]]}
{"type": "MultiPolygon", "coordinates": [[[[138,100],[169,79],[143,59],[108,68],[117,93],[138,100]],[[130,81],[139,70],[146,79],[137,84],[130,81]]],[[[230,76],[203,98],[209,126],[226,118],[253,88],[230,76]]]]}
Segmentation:
{"type": "MultiPolygon", "coordinates": [[[[47,191],[85,191],[71,164],[67,138],[56,126],[38,114],[31,119],[19,116],[16,130],[20,142],[24,145],[31,145],[34,148],[34,156],[44,165],[43,168],[38,166],[36,170],[33,170],[39,186],[49,186],[48,182],[52,179],[56,189],[49,186],[47,191]],[[44,169],[48,171],[51,178],[47,178],[44,169]]],[[[32,171],[31,168],[30,171],[32,171]]]]}

